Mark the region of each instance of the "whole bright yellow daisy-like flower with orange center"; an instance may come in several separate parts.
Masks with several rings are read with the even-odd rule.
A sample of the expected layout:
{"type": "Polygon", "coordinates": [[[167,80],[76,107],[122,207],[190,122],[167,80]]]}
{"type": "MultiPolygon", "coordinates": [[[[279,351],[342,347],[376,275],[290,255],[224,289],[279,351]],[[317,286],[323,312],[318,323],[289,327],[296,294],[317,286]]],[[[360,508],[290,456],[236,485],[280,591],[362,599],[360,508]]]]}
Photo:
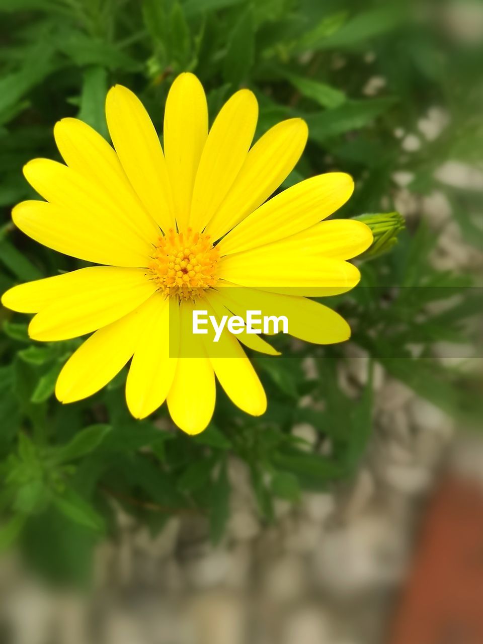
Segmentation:
{"type": "Polygon", "coordinates": [[[193,310],[261,310],[289,317],[289,333],[299,339],[348,339],[346,321],[305,296],[345,292],[359,281],[346,260],[369,247],[370,229],[355,220],[321,221],[350,197],[352,179],[314,176],[269,199],[301,156],[305,122],[285,120],[252,146],[258,105],[240,90],[208,129],[205,93],[191,73],[169,91],[164,152],[128,89],[109,91],[106,117],[113,147],[75,118],[55,125],[65,165],[26,164],[26,179],[45,201],[23,202],[12,213],[37,242],[96,265],[15,286],[3,304],[35,313],[35,340],[91,334],[59,375],[62,403],[99,391],[131,360],[126,400],[136,418],[166,400],[182,430],[204,430],[215,375],[234,404],[262,414],[265,392],[242,344],[277,352],[258,335],[225,330],[220,343],[229,357],[211,355],[203,345],[209,336],[196,336],[199,355],[183,354],[193,310]],[[223,289],[233,285],[243,288],[223,289]]]}

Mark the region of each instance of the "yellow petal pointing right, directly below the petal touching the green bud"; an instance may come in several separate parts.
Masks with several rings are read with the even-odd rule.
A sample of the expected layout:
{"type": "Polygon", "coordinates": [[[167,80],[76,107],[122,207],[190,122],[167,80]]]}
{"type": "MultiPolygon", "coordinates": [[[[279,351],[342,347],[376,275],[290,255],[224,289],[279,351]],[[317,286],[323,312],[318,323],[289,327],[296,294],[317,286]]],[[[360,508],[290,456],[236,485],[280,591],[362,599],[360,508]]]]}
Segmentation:
{"type": "Polygon", "coordinates": [[[288,245],[281,252],[270,244],[222,258],[218,274],[240,286],[294,295],[335,295],[357,285],[361,274],[354,265],[317,251],[300,254],[297,246],[288,245]]]}

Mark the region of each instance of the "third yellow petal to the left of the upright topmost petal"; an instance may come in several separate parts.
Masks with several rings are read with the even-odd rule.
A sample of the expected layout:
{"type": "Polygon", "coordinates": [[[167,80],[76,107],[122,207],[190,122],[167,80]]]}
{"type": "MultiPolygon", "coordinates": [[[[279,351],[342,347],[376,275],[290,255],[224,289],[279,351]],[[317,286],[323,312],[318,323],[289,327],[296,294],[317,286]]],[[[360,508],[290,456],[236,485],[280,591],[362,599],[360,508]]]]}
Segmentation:
{"type": "MultiPolygon", "coordinates": [[[[70,225],[83,226],[100,240],[115,236],[122,247],[131,247],[133,262],[146,266],[158,229],[152,220],[143,218],[142,209],[131,211],[126,207],[128,204],[113,198],[108,189],[56,161],[33,159],[23,172],[29,184],[57,206],[57,216],[62,211],[70,225]]],[[[112,251],[106,251],[106,258],[109,252],[112,251]]],[[[86,249],[86,258],[88,254],[86,249]]]]}

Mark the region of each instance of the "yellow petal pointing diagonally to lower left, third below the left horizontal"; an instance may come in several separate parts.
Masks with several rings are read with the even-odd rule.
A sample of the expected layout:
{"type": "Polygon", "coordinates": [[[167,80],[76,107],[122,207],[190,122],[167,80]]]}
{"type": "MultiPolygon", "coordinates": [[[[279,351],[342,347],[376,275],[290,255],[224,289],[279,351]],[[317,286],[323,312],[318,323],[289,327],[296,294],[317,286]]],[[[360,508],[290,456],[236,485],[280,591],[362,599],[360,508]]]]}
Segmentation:
{"type": "Polygon", "coordinates": [[[144,334],[146,308],[153,298],[127,316],[100,328],[71,355],[55,385],[55,395],[61,403],[87,398],[120,372],[133,355],[138,338],[144,334]]]}

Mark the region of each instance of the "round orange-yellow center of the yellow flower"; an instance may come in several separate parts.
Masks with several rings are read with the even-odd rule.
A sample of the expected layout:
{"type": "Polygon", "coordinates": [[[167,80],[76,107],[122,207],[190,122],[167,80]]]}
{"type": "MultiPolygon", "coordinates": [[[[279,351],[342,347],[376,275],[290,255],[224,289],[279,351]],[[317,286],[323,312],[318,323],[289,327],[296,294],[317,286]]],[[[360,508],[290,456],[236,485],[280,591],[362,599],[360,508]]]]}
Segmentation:
{"type": "Polygon", "coordinates": [[[218,281],[216,264],[220,252],[203,232],[169,229],[159,238],[148,269],[166,296],[194,299],[218,281]]]}

